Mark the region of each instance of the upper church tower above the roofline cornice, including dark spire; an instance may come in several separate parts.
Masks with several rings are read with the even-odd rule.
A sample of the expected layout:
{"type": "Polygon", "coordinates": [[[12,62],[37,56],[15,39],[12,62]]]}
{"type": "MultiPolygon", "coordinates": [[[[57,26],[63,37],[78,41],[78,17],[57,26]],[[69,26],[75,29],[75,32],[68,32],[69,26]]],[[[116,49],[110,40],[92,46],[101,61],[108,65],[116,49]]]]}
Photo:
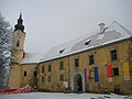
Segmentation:
{"type": "Polygon", "coordinates": [[[14,25],[13,32],[13,47],[12,47],[12,59],[16,63],[20,63],[23,59],[24,54],[24,25],[22,20],[22,13],[20,13],[20,18],[18,19],[18,24],[14,25]]]}

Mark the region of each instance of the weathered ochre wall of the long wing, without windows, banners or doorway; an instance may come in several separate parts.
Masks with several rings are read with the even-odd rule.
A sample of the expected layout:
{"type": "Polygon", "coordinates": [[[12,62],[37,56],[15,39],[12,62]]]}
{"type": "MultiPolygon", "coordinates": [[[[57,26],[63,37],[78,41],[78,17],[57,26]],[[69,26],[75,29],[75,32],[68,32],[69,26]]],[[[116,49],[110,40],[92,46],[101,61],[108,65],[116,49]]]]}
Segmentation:
{"type": "Polygon", "coordinates": [[[113,92],[116,88],[119,88],[121,94],[132,94],[132,43],[130,40],[125,40],[70,56],[40,63],[37,75],[38,90],[64,91],[64,81],[59,81],[59,75],[62,74],[64,75],[64,81],[69,82],[72,91],[74,90],[74,77],[76,74],[80,74],[82,77],[82,91],[113,92]],[[111,61],[110,51],[112,50],[117,50],[117,61],[111,61]],[[94,65],[89,65],[89,55],[94,55],[95,57],[94,65]],[[76,57],[79,58],[78,67],[75,67],[76,57]],[[64,70],[59,70],[61,61],[64,62],[64,70]],[[52,64],[52,72],[47,72],[50,63],[52,64]],[[130,80],[123,80],[123,63],[129,63],[130,80]],[[112,77],[112,81],[108,81],[108,64],[111,64],[112,68],[119,68],[119,76],[112,77]],[[44,73],[42,73],[42,66],[44,66],[44,73]],[[86,84],[84,69],[89,68],[94,72],[95,66],[98,67],[99,82],[95,82],[95,79],[89,78],[88,84],[86,84]],[[51,81],[47,79],[48,76],[51,76],[51,81]],[[44,81],[42,81],[42,77],[44,81]]]}

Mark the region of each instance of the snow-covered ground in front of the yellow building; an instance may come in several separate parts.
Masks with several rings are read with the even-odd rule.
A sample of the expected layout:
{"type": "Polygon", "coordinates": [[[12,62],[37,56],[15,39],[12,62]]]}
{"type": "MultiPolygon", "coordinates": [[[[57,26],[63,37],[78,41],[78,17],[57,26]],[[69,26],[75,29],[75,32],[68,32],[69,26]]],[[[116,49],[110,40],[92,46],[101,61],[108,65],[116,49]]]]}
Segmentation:
{"type": "Polygon", "coordinates": [[[0,99],[132,99],[132,96],[99,95],[99,94],[61,94],[30,92],[18,95],[0,95],[0,99]]]}

